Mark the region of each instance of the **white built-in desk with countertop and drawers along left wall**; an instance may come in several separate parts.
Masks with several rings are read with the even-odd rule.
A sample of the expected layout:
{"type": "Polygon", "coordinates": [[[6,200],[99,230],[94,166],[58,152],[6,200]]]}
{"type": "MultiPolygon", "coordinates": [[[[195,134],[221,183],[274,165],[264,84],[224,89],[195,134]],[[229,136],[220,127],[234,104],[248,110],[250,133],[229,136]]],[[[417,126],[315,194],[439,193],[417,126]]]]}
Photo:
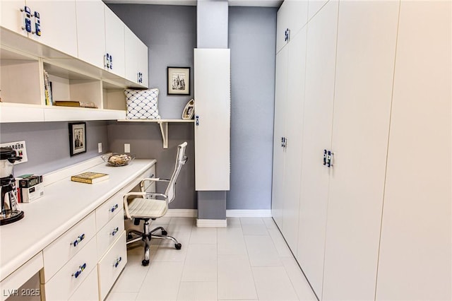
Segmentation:
{"type": "MultiPolygon", "coordinates": [[[[110,268],[111,260],[117,261],[117,266],[124,267],[126,263],[126,258],[107,258],[110,250],[125,249],[124,219],[119,216],[123,212],[122,196],[133,189],[143,177],[153,177],[155,163],[155,160],[133,160],[123,167],[109,167],[101,158],[94,158],[44,175],[44,196],[32,203],[20,204],[25,218],[0,227],[0,299],[5,300],[8,293],[13,293],[38,271],[41,271],[42,288],[52,290],[53,287],[58,287],[65,300],[69,300],[83,281],[87,282],[85,285],[88,287],[102,290],[99,297],[103,299],[108,293],[108,285],[112,284],[112,279],[96,285],[92,283],[97,280],[97,271],[103,273],[102,262],[108,261],[107,269],[110,268]],[[109,179],[96,184],[71,182],[71,175],[83,171],[104,172],[109,174],[109,179]],[[117,208],[114,208],[115,206],[117,208]],[[118,230],[118,227],[114,227],[114,234],[110,236],[116,236],[109,239],[107,228],[114,222],[122,223],[123,226],[118,230]],[[104,234],[107,238],[102,238],[104,234]],[[78,250],[73,251],[76,247],[73,247],[71,242],[80,235],[83,235],[83,240],[78,244],[78,250]],[[59,240],[63,241],[61,251],[57,244],[59,240]],[[82,253],[94,255],[88,266],[81,268],[84,277],[78,278],[80,283],[52,283],[56,278],[60,278],[58,273],[65,268],[68,269],[71,279],[71,271],[74,268],[70,266],[69,259],[76,260],[82,253]],[[58,264],[58,261],[65,260],[61,259],[61,256],[68,258],[66,264],[58,264]]],[[[114,262],[111,266],[114,266],[114,262]]],[[[77,269],[72,272],[76,271],[77,269]]],[[[46,295],[59,299],[60,293],[47,291],[46,295]]]]}

